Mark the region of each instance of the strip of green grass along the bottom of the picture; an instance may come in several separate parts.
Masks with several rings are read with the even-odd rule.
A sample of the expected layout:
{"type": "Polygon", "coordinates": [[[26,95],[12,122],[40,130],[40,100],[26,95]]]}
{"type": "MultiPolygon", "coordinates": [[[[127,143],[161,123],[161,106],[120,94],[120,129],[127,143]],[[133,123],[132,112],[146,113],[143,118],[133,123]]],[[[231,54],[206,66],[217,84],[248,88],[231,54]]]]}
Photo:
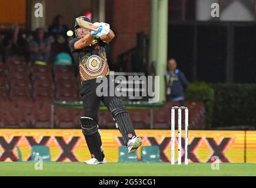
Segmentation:
{"type": "Polygon", "coordinates": [[[35,170],[34,162],[0,162],[0,176],[256,176],[256,163],[107,163],[45,162],[35,170]]]}

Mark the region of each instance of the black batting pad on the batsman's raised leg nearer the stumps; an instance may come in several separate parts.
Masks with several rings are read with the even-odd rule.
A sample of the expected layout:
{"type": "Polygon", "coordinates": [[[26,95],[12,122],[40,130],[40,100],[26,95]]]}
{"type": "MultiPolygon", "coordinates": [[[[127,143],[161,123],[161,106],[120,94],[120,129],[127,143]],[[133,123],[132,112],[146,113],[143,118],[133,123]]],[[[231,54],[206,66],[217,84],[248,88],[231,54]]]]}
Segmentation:
{"type": "Polygon", "coordinates": [[[125,109],[120,98],[115,98],[109,103],[109,110],[118,125],[125,145],[127,145],[128,140],[133,136],[136,136],[134,126],[132,125],[131,117],[129,116],[127,109],[125,109]]]}

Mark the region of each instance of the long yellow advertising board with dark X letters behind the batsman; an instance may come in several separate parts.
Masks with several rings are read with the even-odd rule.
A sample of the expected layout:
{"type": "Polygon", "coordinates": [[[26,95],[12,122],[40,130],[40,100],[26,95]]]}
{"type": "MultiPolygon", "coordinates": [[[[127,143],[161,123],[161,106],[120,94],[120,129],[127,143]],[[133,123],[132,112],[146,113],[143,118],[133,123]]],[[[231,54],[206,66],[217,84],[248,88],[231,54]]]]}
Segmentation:
{"type": "MultiPolygon", "coordinates": [[[[137,130],[137,134],[142,136],[143,146],[158,145],[161,160],[169,162],[170,130],[137,130]]],[[[118,130],[101,130],[101,135],[108,162],[117,162],[118,147],[124,144],[121,134],[118,130]]],[[[84,162],[90,158],[79,129],[1,129],[0,161],[17,161],[16,146],[22,160],[28,161],[32,145],[49,146],[51,159],[56,162],[84,162]]],[[[189,130],[188,150],[189,161],[194,163],[212,162],[212,156],[218,156],[221,162],[255,163],[256,131],[189,130]]],[[[138,150],[139,159],[140,155],[138,150]]]]}

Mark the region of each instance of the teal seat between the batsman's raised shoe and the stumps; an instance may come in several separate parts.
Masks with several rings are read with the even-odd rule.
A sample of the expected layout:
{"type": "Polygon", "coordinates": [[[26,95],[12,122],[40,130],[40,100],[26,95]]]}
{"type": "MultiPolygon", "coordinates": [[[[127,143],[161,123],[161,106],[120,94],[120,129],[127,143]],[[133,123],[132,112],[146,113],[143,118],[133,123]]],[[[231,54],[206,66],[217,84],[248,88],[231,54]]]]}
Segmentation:
{"type": "Polygon", "coordinates": [[[161,162],[160,150],[158,146],[143,146],[141,147],[142,162],[161,162]]]}

